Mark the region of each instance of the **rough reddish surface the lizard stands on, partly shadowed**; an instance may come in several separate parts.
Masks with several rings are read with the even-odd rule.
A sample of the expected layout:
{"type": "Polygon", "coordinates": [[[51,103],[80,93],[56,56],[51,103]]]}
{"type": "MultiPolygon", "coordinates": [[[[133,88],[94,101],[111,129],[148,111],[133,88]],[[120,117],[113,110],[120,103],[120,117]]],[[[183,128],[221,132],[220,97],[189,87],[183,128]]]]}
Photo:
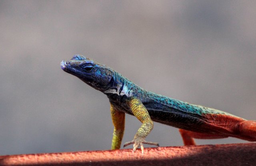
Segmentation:
{"type": "Polygon", "coordinates": [[[256,143],[0,156],[5,166],[256,166],[256,143]]]}

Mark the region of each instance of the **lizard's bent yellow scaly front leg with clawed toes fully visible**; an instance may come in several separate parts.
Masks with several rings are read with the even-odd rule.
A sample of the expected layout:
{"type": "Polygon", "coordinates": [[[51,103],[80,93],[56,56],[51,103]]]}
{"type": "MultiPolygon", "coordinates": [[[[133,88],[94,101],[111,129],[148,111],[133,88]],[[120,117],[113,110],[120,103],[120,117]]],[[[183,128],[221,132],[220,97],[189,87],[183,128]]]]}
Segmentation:
{"type": "Polygon", "coordinates": [[[140,122],[142,122],[142,125],[136,132],[134,139],[130,142],[126,142],[124,144],[124,147],[130,144],[134,144],[133,151],[135,152],[136,148],[140,146],[143,154],[144,152],[143,144],[151,144],[151,145],[159,146],[159,144],[156,142],[147,142],[145,140],[146,136],[150,133],[150,131],[154,127],[153,121],[150,119],[150,116],[148,114],[146,107],[142,104],[142,102],[139,99],[135,97],[126,99],[126,104],[130,107],[134,116],[140,122]]]}

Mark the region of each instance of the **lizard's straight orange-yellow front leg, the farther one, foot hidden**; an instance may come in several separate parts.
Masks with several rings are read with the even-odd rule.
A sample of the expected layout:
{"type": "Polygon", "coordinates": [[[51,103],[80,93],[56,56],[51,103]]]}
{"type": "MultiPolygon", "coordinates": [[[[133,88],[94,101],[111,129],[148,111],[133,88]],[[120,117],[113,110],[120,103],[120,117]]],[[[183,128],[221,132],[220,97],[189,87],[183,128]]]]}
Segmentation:
{"type": "Polygon", "coordinates": [[[122,138],[124,135],[124,119],[125,113],[117,111],[110,103],[110,112],[112,117],[112,122],[114,124],[114,133],[112,138],[111,149],[120,149],[122,138]]]}

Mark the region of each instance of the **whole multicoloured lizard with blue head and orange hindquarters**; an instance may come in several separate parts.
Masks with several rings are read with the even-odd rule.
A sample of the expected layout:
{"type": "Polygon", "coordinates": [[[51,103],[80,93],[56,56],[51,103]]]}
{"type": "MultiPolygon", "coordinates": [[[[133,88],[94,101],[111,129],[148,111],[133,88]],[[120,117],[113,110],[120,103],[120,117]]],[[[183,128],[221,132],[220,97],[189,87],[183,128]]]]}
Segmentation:
{"type": "Polygon", "coordinates": [[[74,55],[69,61],[62,61],[60,66],[107,95],[114,125],[112,150],[120,149],[125,113],[134,115],[142,125],[124,147],[133,144],[135,152],[140,146],[142,154],[143,144],[159,146],[157,142],[145,140],[154,127],[153,121],[179,128],[184,145],[195,145],[194,138],[235,137],[256,141],[256,121],[146,91],[114,69],[84,55],[74,55]]]}

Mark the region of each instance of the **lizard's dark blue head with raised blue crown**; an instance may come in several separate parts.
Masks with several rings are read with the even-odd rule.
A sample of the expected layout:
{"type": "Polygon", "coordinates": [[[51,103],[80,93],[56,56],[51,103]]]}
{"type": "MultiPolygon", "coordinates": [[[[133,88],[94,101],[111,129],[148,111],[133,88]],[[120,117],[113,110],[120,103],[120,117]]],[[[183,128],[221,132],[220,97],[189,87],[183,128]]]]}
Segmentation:
{"type": "Polygon", "coordinates": [[[113,69],[83,55],[62,61],[60,67],[99,91],[108,89],[114,77],[113,69]]]}

